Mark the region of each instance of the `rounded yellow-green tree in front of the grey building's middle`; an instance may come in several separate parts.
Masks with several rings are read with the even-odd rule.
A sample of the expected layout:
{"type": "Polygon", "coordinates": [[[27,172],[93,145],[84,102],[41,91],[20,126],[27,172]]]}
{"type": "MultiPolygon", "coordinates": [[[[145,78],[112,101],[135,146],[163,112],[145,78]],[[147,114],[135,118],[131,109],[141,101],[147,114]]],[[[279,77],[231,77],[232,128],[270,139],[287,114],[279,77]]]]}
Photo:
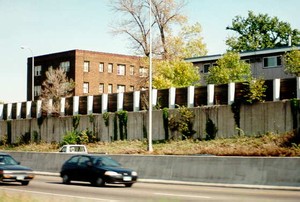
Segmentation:
{"type": "Polygon", "coordinates": [[[209,69],[207,83],[225,84],[247,81],[250,78],[250,64],[240,60],[238,53],[228,52],[217,60],[216,66],[209,69]]]}

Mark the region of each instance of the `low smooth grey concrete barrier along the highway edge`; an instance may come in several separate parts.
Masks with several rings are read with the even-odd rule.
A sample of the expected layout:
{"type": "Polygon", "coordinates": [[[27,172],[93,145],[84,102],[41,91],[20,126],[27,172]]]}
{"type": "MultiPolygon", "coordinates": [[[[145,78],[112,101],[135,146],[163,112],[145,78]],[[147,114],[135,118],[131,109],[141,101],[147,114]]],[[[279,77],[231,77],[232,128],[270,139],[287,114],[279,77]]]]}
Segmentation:
{"type": "MultiPolygon", "coordinates": [[[[70,154],[7,152],[35,171],[58,173],[70,154]]],[[[300,157],[109,155],[142,179],[300,186],[300,157]]]]}

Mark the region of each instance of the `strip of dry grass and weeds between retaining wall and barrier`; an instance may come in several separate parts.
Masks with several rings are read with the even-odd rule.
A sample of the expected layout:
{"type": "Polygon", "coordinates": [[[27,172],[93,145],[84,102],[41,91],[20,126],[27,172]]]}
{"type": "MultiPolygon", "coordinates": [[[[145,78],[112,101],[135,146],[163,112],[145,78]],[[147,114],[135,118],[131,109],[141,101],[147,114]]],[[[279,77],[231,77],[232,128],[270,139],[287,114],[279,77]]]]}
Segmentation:
{"type": "MultiPolygon", "coordinates": [[[[211,141],[154,141],[153,152],[147,151],[147,141],[114,141],[86,144],[90,153],[153,154],[153,155],[216,155],[216,156],[300,156],[300,144],[292,132],[268,133],[261,136],[238,136],[211,141]]],[[[2,145],[0,150],[57,152],[58,144],[30,143],[2,145]]]]}

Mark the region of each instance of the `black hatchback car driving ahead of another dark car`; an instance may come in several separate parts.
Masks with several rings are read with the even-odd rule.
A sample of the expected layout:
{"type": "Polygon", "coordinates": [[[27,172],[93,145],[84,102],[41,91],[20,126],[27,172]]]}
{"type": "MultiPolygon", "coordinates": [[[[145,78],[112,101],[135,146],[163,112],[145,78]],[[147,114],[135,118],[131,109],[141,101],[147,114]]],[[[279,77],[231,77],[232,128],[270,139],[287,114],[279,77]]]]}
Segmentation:
{"type": "Polygon", "coordinates": [[[95,186],[124,184],[131,187],[137,181],[137,173],[107,156],[76,155],[67,160],[61,169],[60,176],[64,184],[71,181],[90,182],[95,186]]]}

